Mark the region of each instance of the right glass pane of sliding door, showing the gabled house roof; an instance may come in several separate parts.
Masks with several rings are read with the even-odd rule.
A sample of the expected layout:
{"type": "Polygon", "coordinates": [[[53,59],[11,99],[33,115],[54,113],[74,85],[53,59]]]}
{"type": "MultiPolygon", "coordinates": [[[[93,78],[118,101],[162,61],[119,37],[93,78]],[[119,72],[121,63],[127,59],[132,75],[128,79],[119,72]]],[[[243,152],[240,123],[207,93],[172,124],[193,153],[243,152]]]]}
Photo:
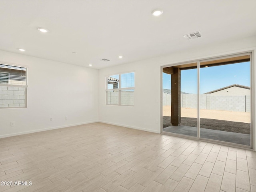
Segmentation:
{"type": "Polygon", "coordinates": [[[200,97],[201,138],[250,146],[250,62],[201,66],[200,97]]]}

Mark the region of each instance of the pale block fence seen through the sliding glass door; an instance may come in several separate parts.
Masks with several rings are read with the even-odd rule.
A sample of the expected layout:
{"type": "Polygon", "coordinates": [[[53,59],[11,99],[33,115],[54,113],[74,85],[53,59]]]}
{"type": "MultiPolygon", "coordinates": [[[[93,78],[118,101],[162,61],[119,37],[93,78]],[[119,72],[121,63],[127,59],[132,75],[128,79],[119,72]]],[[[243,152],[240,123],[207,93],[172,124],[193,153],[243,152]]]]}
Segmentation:
{"type": "MultiPolygon", "coordinates": [[[[163,93],[163,106],[171,105],[171,95],[163,93]]],[[[182,108],[197,108],[196,94],[181,94],[182,108]]],[[[250,112],[250,95],[219,96],[211,94],[200,95],[200,108],[207,110],[225,110],[235,112],[250,112]]]]}

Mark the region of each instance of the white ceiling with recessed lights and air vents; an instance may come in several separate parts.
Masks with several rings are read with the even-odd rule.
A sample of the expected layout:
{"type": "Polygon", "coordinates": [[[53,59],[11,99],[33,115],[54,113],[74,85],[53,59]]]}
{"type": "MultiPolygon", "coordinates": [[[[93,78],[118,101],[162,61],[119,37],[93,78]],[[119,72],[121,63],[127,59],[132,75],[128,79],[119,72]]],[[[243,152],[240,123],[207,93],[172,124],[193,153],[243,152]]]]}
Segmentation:
{"type": "Polygon", "coordinates": [[[1,0],[0,50],[99,69],[254,36],[255,23],[255,0],[1,0]]]}

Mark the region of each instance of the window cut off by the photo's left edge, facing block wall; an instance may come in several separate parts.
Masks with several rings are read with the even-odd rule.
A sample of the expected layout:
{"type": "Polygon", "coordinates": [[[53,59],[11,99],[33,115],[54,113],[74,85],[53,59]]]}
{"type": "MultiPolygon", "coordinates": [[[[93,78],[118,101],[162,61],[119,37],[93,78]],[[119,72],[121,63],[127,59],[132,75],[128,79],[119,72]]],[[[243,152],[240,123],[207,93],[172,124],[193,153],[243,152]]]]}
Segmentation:
{"type": "Polygon", "coordinates": [[[26,108],[27,68],[0,63],[0,109],[26,108]]]}

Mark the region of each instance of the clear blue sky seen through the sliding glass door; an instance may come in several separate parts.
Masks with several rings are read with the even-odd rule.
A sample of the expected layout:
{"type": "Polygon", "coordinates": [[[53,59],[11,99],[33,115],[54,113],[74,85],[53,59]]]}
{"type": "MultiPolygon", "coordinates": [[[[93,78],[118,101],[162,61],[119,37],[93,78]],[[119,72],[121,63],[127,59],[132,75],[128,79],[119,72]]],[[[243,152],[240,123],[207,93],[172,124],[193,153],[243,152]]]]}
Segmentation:
{"type": "MultiPolygon", "coordinates": [[[[232,84],[250,86],[250,62],[200,68],[200,94],[232,84]]],[[[171,88],[170,75],[165,73],[163,88],[171,88]]],[[[197,69],[181,71],[181,91],[197,93],[197,69]]]]}

